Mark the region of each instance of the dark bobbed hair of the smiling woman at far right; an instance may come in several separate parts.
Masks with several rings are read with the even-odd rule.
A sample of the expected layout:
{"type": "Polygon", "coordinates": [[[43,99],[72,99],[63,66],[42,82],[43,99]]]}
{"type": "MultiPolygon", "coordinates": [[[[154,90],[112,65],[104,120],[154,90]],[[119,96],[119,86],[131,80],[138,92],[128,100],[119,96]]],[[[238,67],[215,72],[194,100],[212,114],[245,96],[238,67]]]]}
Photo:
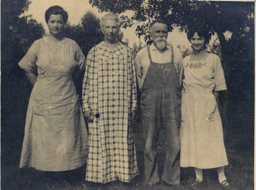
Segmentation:
{"type": "Polygon", "coordinates": [[[189,28],[189,32],[187,33],[188,40],[193,38],[195,32],[197,32],[198,36],[204,38],[205,44],[209,44],[210,33],[207,26],[195,24],[189,28]]]}

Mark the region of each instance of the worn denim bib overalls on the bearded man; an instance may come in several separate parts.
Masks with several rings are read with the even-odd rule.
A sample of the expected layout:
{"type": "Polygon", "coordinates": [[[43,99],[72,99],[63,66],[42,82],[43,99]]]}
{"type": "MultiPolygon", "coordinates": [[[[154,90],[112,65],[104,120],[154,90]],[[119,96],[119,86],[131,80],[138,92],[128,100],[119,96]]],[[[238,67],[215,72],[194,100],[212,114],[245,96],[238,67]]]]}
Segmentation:
{"type": "Polygon", "coordinates": [[[150,64],[141,87],[141,121],[146,141],[144,152],[145,177],[148,184],[159,182],[156,152],[161,124],[165,134],[166,157],[162,180],[180,183],[180,105],[179,81],[174,66],[173,48],[170,63],[154,63],[149,46],[150,64]]]}

